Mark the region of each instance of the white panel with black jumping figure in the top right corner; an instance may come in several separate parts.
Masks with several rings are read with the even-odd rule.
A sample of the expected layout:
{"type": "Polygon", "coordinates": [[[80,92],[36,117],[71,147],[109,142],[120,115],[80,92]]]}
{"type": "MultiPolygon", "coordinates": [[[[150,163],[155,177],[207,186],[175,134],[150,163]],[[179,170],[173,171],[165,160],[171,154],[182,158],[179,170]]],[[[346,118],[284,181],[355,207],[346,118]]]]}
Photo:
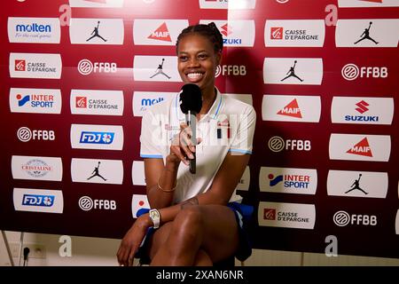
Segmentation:
{"type": "Polygon", "coordinates": [[[338,20],[337,47],[397,47],[399,19],[338,20]]]}

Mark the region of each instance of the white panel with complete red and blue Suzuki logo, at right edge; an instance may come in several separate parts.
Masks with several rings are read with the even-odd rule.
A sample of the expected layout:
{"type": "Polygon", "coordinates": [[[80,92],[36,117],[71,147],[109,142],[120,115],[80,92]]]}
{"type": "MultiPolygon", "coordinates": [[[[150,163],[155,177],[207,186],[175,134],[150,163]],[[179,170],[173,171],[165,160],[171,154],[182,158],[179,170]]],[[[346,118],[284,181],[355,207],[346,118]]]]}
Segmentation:
{"type": "Polygon", "coordinates": [[[393,98],[333,97],[332,123],[392,124],[393,98]]]}

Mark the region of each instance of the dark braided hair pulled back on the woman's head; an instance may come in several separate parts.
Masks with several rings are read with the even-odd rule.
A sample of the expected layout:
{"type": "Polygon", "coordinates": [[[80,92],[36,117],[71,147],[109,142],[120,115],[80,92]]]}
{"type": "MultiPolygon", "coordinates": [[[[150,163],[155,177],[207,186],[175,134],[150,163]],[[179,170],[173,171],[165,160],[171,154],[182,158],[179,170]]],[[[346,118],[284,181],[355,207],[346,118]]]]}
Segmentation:
{"type": "Polygon", "coordinates": [[[219,29],[216,27],[214,22],[210,22],[209,24],[197,24],[187,28],[184,28],[179,36],[177,36],[176,41],[176,51],[177,46],[184,36],[190,34],[198,34],[200,36],[205,36],[211,43],[214,45],[214,51],[219,52],[223,50],[223,36],[220,33],[219,29]]]}

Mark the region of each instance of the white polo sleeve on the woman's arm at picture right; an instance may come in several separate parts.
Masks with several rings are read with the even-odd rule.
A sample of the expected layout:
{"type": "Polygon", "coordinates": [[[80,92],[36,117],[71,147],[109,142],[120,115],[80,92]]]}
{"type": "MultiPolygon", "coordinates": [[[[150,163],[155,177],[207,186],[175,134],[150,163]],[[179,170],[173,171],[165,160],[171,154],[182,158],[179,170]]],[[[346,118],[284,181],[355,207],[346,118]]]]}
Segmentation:
{"type": "Polygon", "coordinates": [[[244,114],[239,114],[239,125],[229,152],[231,154],[252,154],[256,113],[254,107],[248,105],[244,114]]]}

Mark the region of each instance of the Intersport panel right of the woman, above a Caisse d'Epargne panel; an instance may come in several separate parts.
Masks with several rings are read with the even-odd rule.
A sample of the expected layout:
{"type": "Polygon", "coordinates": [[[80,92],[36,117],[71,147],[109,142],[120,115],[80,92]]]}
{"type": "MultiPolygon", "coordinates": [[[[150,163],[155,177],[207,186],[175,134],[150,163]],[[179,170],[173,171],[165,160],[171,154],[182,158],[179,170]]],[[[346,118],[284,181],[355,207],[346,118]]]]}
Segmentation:
{"type": "Polygon", "coordinates": [[[259,187],[266,193],[315,194],[317,170],[262,167],[259,187]]]}

